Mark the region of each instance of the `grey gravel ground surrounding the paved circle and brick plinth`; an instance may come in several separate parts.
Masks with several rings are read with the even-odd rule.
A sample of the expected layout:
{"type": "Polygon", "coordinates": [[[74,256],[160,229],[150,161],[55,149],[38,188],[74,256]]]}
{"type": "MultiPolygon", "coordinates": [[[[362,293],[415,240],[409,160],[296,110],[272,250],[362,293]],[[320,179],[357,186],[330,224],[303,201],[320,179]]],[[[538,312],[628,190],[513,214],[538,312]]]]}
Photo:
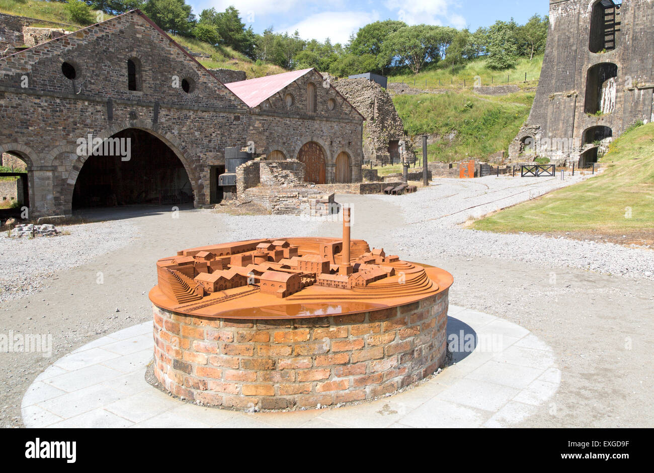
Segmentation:
{"type": "MultiPolygon", "coordinates": [[[[620,274],[628,268],[625,275],[637,276],[651,268],[654,252],[596,243],[598,249],[589,253],[591,246],[569,239],[486,234],[458,226],[471,212],[483,215],[540,195],[561,185],[556,181],[438,179],[417,194],[336,200],[353,205],[353,238],[445,268],[455,277],[453,304],[521,324],[553,347],[562,370],[559,392],[525,427],[654,427],[654,412],[642,409],[654,404],[654,282],[587,271],[583,260],[592,257],[601,272],[620,274]]],[[[0,241],[6,279],[15,281],[26,268],[41,271],[24,266],[31,265],[30,256],[46,258],[41,274],[54,273],[41,281],[38,294],[20,292],[22,297],[0,304],[0,334],[51,334],[53,340],[51,357],[0,353],[0,427],[22,425],[22,396],[54,360],[152,318],[147,291],[156,283],[158,258],[252,237],[341,235],[338,219],[235,217],[192,209],[179,215],[114,209],[111,215],[123,220],[69,227],[71,235],[52,239],[0,241]],[[44,246],[26,246],[35,244],[44,246]],[[99,271],[102,284],[97,283],[99,271]]]]}

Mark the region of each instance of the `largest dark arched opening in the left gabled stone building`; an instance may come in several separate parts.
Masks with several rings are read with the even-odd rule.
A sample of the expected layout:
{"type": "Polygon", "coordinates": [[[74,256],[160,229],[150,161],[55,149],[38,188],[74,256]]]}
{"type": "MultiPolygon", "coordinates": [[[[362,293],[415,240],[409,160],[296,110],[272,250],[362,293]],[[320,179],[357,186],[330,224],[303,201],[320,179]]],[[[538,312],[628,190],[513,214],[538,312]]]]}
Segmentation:
{"type": "Polygon", "coordinates": [[[73,209],[193,201],[184,165],[158,137],[137,128],[103,141],[80,169],[73,209]]]}

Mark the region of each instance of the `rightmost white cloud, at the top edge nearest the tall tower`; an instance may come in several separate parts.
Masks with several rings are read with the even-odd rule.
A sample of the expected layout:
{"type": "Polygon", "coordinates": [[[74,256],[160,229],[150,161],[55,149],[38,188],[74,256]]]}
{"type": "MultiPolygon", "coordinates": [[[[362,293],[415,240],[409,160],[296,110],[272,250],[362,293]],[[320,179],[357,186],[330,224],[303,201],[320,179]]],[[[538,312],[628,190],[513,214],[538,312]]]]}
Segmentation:
{"type": "MultiPolygon", "coordinates": [[[[466,27],[466,19],[460,14],[451,12],[449,8],[453,5],[449,0],[385,0],[384,5],[388,10],[398,14],[398,20],[409,25],[447,24],[456,28],[466,27]]],[[[456,7],[456,3],[454,3],[456,7]]]]}

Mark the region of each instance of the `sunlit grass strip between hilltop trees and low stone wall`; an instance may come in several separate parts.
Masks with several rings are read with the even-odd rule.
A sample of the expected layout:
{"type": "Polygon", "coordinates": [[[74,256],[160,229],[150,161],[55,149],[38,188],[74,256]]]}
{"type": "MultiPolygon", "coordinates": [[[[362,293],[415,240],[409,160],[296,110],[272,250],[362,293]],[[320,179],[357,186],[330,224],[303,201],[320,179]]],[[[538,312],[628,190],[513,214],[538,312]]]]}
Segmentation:
{"type": "Polygon", "coordinates": [[[473,78],[475,76],[481,77],[481,85],[490,86],[506,84],[507,77],[509,76],[509,83],[517,84],[521,87],[532,88],[538,84],[540,77],[540,70],[543,66],[543,56],[534,56],[534,59],[521,58],[515,67],[507,69],[506,71],[492,71],[486,67],[485,59],[477,59],[470,61],[464,65],[455,67],[454,71],[451,67],[447,67],[444,63],[434,66],[428,66],[417,74],[411,72],[390,75],[388,82],[405,82],[417,88],[455,88],[461,89],[464,86],[472,90],[473,78]],[[527,82],[525,83],[525,73],[527,75],[527,82]],[[439,82],[440,80],[440,82],[439,82]],[[425,87],[426,81],[426,87],[425,87]]]}

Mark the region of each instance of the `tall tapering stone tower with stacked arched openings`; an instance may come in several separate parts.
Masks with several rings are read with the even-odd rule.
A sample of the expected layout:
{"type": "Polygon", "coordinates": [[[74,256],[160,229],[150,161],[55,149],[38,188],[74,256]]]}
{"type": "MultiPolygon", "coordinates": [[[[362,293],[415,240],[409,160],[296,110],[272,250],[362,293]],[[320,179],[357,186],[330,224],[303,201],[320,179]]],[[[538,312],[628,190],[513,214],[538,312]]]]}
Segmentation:
{"type": "Polygon", "coordinates": [[[585,166],[629,126],[654,119],[651,0],[551,0],[543,69],[509,158],[585,166]]]}

